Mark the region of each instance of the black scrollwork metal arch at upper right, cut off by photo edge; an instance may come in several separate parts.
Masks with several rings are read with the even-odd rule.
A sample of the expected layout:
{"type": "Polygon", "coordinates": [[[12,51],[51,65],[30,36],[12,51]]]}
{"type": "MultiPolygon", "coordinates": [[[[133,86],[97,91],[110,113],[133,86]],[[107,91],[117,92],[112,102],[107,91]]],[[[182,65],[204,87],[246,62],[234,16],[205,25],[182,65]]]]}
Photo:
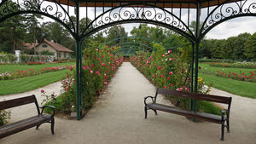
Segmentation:
{"type": "Polygon", "coordinates": [[[245,0],[243,2],[235,2],[235,4],[229,3],[229,1],[230,0],[226,0],[224,3],[220,3],[215,9],[212,9],[211,13],[207,14],[207,18],[201,26],[200,37],[198,37],[199,41],[201,41],[201,39],[207,34],[207,32],[210,32],[213,27],[218,26],[224,21],[238,17],[256,16],[256,2],[249,3],[245,0]],[[230,6],[230,4],[236,5],[236,8],[234,8],[234,6],[230,6]]]}

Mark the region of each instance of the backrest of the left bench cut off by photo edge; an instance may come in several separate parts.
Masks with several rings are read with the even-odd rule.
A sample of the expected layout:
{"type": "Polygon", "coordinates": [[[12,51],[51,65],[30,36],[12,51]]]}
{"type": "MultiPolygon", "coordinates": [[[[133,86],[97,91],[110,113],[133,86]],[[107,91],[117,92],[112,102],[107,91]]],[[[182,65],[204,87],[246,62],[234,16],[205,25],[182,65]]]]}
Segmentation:
{"type": "Polygon", "coordinates": [[[13,99],[13,100],[8,100],[8,101],[1,101],[0,102],[0,110],[12,108],[12,107],[19,107],[19,106],[30,104],[30,103],[36,104],[37,109],[38,109],[38,114],[40,114],[38,101],[37,101],[35,95],[29,95],[26,97],[21,97],[21,98],[17,98],[17,99],[13,99]]]}

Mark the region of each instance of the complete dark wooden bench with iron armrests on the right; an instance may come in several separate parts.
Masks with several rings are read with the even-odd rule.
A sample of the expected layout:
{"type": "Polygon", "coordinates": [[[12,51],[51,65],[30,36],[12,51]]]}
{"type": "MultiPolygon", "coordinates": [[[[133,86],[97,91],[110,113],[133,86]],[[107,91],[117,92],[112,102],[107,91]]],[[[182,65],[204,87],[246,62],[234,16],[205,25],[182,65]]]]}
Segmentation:
{"type": "Polygon", "coordinates": [[[156,90],[155,96],[147,96],[144,98],[145,103],[145,118],[148,115],[148,109],[153,110],[155,115],[157,115],[156,110],[163,112],[171,112],[174,114],[182,115],[187,118],[195,118],[203,121],[208,121],[216,124],[221,124],[221,138],[220,140],[224,141],[224,127],[227,128],[227,131],[230,132],[230,106],[231,106],[232,97],[224,97],[218,95],[203,95],[203,94],[195,94],[183,91],[176,91],[172,89],[161,89],[158,88],[156,90]],[[179,109],[177,107],[166,106],[162,104],[156,103],[156,98],[158,94],[162,95],[174,95],[177,97],[183,97],[188,99],[194,99],[198,101],[212,101],[217,103],[227,104],[228,108],[222,110],[221,116],[205,113],[205,112],[192,112],[183,109],[179,109]],[[151,103],[147,103],[147,99],[151,99],[151,103]],[[227,123],[226,125],[224,123],[227,123]]]}

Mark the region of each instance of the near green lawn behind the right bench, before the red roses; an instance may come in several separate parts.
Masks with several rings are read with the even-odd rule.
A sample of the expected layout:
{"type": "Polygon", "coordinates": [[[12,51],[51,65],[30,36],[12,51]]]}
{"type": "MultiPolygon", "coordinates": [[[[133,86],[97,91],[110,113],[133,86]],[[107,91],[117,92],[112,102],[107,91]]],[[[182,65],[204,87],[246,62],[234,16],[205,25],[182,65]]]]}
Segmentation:
{"type": "Polygon", "coordinates": [[[207,74],[199,74],[206,84],[213,84],[214,88],[222,89],[235,95],[256,99],[256,83],[237,81],[230,78],[220,78],[207,74]]]}

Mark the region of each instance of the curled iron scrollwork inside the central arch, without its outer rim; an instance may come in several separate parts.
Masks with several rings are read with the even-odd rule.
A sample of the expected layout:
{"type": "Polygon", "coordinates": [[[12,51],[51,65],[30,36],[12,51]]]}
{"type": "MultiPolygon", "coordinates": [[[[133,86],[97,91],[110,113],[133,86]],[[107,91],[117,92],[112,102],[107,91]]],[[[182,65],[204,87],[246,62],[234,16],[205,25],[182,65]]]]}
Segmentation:
{"type": "MultiPolygon", "coordinates": [[[[95,20],[82,31],[82,36],[90,33],[95,29],[102,29],[104,26],[109,26],[116,23],[128,22],[146,22],[160,26],[172,27],[177,31],[186,33],[188,36],[193,36],[193,32],[189,27],[180,20],[177,15],[172,14],[166,9],[161,9],[153,5],[144,4],[143,8],[134,7],[138,3],[130,3],[108,9],[106,12],[98,15],[95,20]]],[[[142,4],[142,3],[139,3],[142,4]]]]}

